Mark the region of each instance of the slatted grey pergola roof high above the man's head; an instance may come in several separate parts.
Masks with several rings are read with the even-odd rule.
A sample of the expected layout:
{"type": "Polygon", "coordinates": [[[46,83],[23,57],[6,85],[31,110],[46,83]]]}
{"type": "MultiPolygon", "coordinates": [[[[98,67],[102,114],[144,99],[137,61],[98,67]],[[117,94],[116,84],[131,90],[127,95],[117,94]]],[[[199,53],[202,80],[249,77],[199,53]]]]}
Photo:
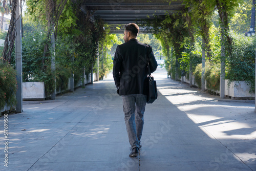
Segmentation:
{"type": "MultiPolygon", "coordinates": [[[[153,19],[155,16],[165,17],[166,12],[172,14],[179,12],[185,5],[182,1],[171,2],[169,0],[89,0],[84,1],[81,10],[84,13],[90,12],[94,18],[101,18],[111,27],[110,33],[123,33],[124,27],[129,23],[141,23],[145,19],[153,19]]],[[[145,32],[140,29],[140,33],[145,32]]]]}

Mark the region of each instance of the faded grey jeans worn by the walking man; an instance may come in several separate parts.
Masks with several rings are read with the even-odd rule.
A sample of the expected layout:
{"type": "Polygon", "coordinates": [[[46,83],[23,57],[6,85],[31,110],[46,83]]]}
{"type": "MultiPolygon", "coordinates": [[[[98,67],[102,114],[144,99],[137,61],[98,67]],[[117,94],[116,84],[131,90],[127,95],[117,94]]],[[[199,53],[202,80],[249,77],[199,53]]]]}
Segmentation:
{"type": "Polygon", "coordinates": [[[146,95],[122,95],[124,121],[131,148],[139,147],[142,136],[146,95]]]}

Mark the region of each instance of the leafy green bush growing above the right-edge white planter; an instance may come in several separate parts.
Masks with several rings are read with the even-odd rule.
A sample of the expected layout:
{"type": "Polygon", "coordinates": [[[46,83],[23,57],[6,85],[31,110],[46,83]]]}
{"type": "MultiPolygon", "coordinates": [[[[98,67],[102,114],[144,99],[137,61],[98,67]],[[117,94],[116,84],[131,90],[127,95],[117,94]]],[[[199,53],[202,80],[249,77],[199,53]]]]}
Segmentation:
{"type": "Polygon", "coordinates": [[[232,33],[232,52],[226,62],[226,79],[246,81],[252,91],[255,84],[255,37],[232,33]]]}

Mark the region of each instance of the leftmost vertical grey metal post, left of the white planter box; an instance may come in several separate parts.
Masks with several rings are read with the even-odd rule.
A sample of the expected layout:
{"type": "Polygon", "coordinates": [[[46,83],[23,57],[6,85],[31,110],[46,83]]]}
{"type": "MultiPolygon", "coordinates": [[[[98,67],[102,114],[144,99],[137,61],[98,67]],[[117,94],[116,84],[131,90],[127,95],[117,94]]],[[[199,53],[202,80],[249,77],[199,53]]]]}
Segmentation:
{"type": "Polygon", "coordinates": [[[15,39],[15,59],[16,59],[16,79],[17,79],[17,93],[16,93],[16,112],[22,113],[23,112],[23,106],[22,106],[22,28],[21,28],[21,18],[20,18],[20,12],[19,8],[20,4],[19,1],[17,1],[17,7],[16,7],[16,39],[15,39]]]}

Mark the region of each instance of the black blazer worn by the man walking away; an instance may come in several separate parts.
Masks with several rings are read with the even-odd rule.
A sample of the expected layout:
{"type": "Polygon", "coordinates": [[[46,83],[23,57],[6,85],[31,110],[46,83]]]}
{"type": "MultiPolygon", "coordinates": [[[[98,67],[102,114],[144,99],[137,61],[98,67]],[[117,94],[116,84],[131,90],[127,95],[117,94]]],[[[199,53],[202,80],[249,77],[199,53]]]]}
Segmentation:
{"type": "Polygon", "coordinates": [[[150,71],[157,69],[157,61],[152,47],[137,39],[117,46],[114,57],[113,77],[119,95],[144,94],[144,80],[147,77],[147,59],[150,71]]]}

